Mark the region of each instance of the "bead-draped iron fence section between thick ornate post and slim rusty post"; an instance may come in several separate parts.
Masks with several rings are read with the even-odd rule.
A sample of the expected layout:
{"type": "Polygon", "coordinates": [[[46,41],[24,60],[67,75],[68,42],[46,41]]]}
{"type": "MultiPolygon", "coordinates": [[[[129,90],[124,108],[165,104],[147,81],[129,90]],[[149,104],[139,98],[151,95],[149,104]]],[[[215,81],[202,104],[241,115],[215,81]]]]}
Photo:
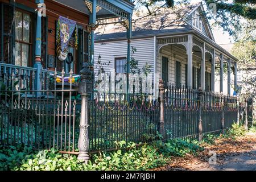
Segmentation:
{"type": "Polygon", "coordinates": [[[115,142],[151,142],[158,131],[159,103],[147,94],[93,92],[89,107],[90,151],[112,150],[115,142]],[[100,99],[101,98],[101,99],[100,99]]]}

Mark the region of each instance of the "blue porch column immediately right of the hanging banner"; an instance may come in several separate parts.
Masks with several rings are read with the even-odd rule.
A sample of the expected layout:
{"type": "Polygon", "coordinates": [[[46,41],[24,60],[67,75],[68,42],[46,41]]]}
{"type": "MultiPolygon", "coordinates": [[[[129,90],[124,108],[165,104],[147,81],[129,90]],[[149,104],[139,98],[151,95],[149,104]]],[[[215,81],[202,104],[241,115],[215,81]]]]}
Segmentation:
{"type": "Polygon", "coordinates": [[[90,68],[94,67],[94,30],[96,28],[97,0],[92,1],[92,13],[89,13],[90,24],[90,68]]]}

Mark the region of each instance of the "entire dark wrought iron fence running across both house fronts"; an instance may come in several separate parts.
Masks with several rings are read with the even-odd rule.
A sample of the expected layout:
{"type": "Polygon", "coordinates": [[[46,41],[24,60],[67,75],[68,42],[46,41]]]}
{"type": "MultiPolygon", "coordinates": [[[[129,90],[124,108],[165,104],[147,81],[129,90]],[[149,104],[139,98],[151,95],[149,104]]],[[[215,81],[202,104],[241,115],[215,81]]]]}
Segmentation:
{"type": "MultiPolygon", "coordinates": [[[[42,71],[41,90],[35,90],[34,71],[1,76],[0,144],[78,154],[80,114],[88,112],[89,152],[114,150],[115,142],[197,137],[220,132],[237,122],[237,97],[191,88],[160,85],[160,96],[99,93],[94,90],[88,110],[81,110],[80,76],[42,71]],[[22,78],[22,79],[21,79],[22,78]],[[22,84],[21,84],[22,82],[22,84]],[[200,98],[201,97],[201,98],[200,98]],[[199,110],[201,109],[201,115],[199,110]]],[[[239,113],[242,115],[242,106],[239,113]]],[[[252,107],[247,107],[248,113],[252,107]]]]}

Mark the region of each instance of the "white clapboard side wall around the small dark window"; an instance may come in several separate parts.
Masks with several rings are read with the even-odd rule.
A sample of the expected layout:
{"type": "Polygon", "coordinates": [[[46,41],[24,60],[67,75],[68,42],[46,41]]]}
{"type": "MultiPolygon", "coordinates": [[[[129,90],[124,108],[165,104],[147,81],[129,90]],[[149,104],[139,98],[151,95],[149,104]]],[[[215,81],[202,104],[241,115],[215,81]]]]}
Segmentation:
{"type": "MultiPolygon", "coordinates": [[[[114,69],[114,60],[118,57],[127,57],[127,40],[118,42],[104,42],[94,44],[94,71],[98,73],[100,65],[97,63],[98,56],[101,55],[101,64],[104,70],[109,73],[114,69]]],[[[133,39],[131,46],[137,49],[132,56],[138,61],[138,68],[142,70],[143,66],[148,63],[151,65],[151,73],[154,73],[154,38],[133,39]]]]}

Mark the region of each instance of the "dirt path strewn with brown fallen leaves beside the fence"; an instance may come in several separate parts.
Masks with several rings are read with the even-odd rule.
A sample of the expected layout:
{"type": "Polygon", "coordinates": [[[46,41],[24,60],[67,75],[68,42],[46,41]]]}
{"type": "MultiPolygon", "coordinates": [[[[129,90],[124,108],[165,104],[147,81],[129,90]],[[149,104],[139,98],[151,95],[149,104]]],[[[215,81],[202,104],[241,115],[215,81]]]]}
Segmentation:
{"type": "Polygon", "coordinates": [[[248,133],[245,137],[234,139],[217,139],[213,145],[205,146],[205,150],[197,156],[174,158],[171,163],[157,170],[189,170],[189,171],[252,171],[256,170],[256,133],[248,133]],[[209,159],[216,163],[209,164],[209,159]],[[212,158],[211,158],[212,157],[212,158]]]}

